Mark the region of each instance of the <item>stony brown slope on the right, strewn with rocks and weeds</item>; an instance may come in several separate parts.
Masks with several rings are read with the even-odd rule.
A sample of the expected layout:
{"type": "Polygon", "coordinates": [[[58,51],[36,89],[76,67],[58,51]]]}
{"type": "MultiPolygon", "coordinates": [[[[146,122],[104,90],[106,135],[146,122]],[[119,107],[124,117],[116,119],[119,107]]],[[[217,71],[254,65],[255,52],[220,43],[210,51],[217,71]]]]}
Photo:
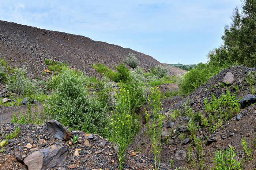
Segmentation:
{"type": "MultiPolygon", "coordinates": [[[[236,152],[244,151],[241,139],[245,138],[248,143],[247,147],[252,148],[254,155],[252,154],[253,156],[251,158],[246,159],[247,161],[244,162],[242,169],[255,169],[256,146],[253,143],[256,142],[256,105],[254,104],[256,103],[256,96],[251,94],[248,80],[246,80],[248,73],[255,72],[255,67],[248,68],[242,65],[229,67],[210,78],[206,84],[197,88],[184,99],[180,98],[176,100],[176,103],[172,103],[170,107],[165,107],[163,113],[166,119],[164,120],[161,134],[162,141],[165,142],[162,144],[161,161],[169,164],[173,160],[173,165],[183,167],[184,169],[210,169],[214,166],[213,158],[216,151],[226,150],[229,147],[234,148],[236,152]],[[226,80],[229,80],[229,84],[226,84],[226,80]],[[208,154],[207,160],[204,160],[204,165],[199,165],[198,162],[196,165],[192,165],[193,161],[199,160],[197,155],[194,155],[195,157],[192,161],[188,161],[187,159],[186,161],[185,158],[177,159],[177,155],[180,154],[177,151],[185,151],[185,155],[187,155],[189,147],[192,146],[192,152],[197,150],[196,144],[192,141],[191,133],[188,131],[190,117],[185,113],[186,109],[191,107],[193,114],[203,113],[203,116],[209,119],[209,115],[204,113],[204,100],[208,98],[211,101],[212,94],[218,99],[221,94],[226,94],[226,90],[229,90],[231,96],[235,96],[237,100],[243,102],[248,101],[250,104],[243,105],[243,102],[241,102],[239,113],[236,113],[231,119],[221,121],[221,127],[213,131],[211,131],[211,126],[204,126],[202,121],[196,124],[199,127],[196,136],[202,140],[203,151],[208,154]],[[242,100],[244,97],[245,100],[242,100]],[[189,103],[184,105],[188,99],[189,103]],[[179,111],[178,116],[174,117],[175,119],[173,119],[174,111],[179,111]],[[184,136],[180,136],[181,134],[184,136]],[[166,138],[166,136],[168,137],[166,138]]],[[[255,74],[252,74],[252,76],[254,77],[253,84],[256,85],[255,74]]],[[[225,108],[219,109],[226,111],[225,108]]],[[[214,125],[214,127],[216,126],[214,125]]],[[[153,157],[151,152],[152,146],[146,132],[147,128],[144,126],[134,138],[129,149],[139,150],[142,154],[153,157]]],[[[241,160],[241,157],[245,158],[246,154],[236,155],[237,160],[241,160]]]]}

